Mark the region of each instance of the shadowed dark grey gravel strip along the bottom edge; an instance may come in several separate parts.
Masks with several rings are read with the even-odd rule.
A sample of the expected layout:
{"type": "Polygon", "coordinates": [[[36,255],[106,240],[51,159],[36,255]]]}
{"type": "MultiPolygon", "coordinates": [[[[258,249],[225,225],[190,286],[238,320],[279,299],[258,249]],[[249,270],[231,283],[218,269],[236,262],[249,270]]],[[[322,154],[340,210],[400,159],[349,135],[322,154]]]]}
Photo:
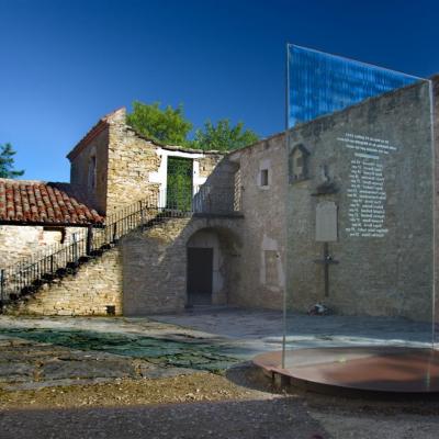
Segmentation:
{"type": "Polygon", "coordinates": [[[436,416],[316,410],[301,398],[123,408],[12,410],[1,438],[437,439],[436,416]]]}

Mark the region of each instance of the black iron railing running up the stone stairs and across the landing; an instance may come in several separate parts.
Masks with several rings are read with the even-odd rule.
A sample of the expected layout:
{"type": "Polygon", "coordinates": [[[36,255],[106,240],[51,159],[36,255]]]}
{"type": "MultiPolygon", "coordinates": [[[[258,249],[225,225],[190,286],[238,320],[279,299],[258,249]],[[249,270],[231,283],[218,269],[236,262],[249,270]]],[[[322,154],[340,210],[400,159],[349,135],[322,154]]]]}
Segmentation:
{"type": "Polygon", "coordinates": [[[11,302],[35,293],[43,284],[74,274],[81,263],[99,257],[119,240],[136,229],[153,227],[169,218],[187,217],[193,213],[227,213],[237,211],[229,188],[196,188],[196,194],[173,194],[165,200],[150,195],[110,215],[100,227],[87,227],[71,234],[64,244],[44,250],[0,270],[0,309],[11,302]]]}

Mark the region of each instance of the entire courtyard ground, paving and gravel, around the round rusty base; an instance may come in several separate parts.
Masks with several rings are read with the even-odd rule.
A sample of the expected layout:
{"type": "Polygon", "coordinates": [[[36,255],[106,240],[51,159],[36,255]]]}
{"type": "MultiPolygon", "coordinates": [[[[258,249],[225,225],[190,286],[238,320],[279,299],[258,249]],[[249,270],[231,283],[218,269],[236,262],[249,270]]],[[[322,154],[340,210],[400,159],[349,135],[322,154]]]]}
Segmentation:
{"type": "MultiPolygon", "coordinates": [[[[289,316],[291,348],[428,345],[404,319],[289,316]]],[[[437,438],[435,399],[278,393],[249,365],[281,348],[278,312],[0,317],[0,437],[437,438]],[[75,384],[75,385],[72,385],[75,384]]]]}

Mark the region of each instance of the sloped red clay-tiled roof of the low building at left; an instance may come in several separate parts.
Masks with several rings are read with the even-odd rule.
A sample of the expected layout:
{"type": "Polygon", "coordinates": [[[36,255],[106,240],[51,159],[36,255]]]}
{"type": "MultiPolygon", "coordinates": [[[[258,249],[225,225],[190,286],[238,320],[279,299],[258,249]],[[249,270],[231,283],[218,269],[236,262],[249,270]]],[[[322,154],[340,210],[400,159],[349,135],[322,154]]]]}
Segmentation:
{"type": "Polygon", "coordinates": [[[102,224],[104,218],[69,194],[68,184],[0,179],[0,223],[102,224]]]}

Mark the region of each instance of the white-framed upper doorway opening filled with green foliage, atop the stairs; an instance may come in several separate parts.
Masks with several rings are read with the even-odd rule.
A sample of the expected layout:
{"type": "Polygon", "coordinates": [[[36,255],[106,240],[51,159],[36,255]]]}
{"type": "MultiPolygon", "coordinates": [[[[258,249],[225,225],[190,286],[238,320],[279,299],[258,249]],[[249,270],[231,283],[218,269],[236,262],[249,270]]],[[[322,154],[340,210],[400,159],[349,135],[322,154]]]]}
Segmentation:
{"type": "Polygon", "coordinates": [[[166,206],[168,209],[190,212],[192,210],[192,173],[191,159],[168,157],[168,176],[166,206]]]}

